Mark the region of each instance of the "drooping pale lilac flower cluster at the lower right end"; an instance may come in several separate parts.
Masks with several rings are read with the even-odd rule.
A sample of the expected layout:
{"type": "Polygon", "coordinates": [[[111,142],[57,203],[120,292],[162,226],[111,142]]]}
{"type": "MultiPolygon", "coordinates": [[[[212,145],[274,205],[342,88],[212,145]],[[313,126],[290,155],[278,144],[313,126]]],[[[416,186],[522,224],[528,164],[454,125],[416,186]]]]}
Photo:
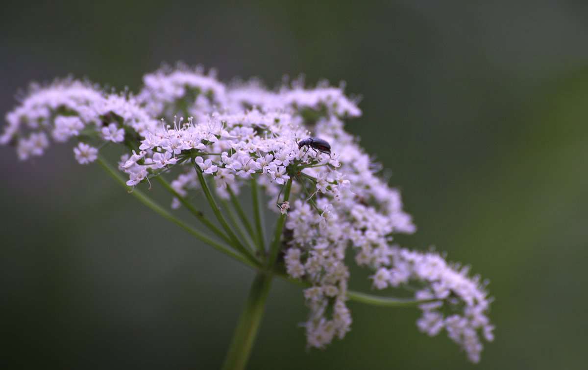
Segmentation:
{"type": "Polygon", "coordinates": [[[486,316],[492,298],[487,297],[485,284],[479,277],[468,277],[469,269],[452,266],[437,253],[420,253],[394,247],[390,268],[380,267],[374,274],[374,284],[382,289],[398,287],[410,281],[422,283],[415,297],[420,300],[435,300],[423,303],[423,311],[417,326],[430,336],[445,329],[451,340],[467,353],[472,362],[480,361],[482,343],[478,337],[482,332],[487,341],[492,341],[494,325],[486,316]]]}

